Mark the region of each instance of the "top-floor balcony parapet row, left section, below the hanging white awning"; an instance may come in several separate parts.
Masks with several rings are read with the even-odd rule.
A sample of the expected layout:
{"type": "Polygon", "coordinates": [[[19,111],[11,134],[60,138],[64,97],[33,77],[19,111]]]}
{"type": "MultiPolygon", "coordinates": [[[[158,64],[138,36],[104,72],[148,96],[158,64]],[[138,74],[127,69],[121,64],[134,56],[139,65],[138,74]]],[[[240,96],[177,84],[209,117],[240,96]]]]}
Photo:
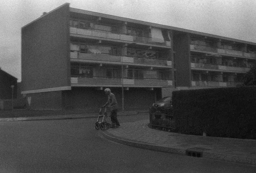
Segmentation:
{"type": "Polygon", "coordinates": [[[114,40],[123,40],[123,41],[130,41],[130,42],[140,42],[140,43],[147,43],[147,44],[156,44],[162,46],[171,46],[171,42],[164,41],[164,42],[154,42],[158,40],[158,38],[143,38],[137,36],[128,36],[124,34],[114,34],[110,32],[104,32],[101,30],[86,30],[81,28],[74,28],[70,27],[70,34],[78,34],[83,36],[92,36],[92,37],[100,37],[100,38],[108,38],[114,40]]]}

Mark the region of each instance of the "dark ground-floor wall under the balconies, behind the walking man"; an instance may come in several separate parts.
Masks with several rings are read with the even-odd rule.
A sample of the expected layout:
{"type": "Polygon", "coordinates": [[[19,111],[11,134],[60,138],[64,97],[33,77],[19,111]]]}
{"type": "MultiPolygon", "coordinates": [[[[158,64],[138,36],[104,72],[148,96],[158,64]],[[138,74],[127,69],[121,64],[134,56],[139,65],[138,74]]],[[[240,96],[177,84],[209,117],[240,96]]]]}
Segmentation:
{"type": "MultiPolygon", "coordinates": [[[[93,87],[72,87],[62,91],[63,107],[66,109],[86,109],[98,111],[107,101],[103,90],[93,87]]],[[[110,88],[116,95],[118,109],[122,110],[122,88],[110,88]]],[[[161,89],[146,90],[145,88],[129,88],[124,90],[124,109],[148,109],[152,103],[161,98],[161,89]]]]}

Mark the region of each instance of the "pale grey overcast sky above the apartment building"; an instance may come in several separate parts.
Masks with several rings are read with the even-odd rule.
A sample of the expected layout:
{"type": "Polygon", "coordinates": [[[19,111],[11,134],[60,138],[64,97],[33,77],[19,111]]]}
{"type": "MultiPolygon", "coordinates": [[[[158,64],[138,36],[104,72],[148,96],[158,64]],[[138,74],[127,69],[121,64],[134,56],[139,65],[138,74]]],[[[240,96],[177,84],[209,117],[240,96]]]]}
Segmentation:
{"type": "Polygon", "coordinates": [[[21,81],[21,28],[70,7],[256,42],[256,0],[0,0],[0,68],[21,81]]]}

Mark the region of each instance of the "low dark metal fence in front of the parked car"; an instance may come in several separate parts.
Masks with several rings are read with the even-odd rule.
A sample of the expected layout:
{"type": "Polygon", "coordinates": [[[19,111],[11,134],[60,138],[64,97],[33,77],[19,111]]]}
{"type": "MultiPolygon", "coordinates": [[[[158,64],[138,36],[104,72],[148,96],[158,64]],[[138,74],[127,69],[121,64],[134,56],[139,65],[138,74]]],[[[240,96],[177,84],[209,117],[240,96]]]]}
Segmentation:
{"type": "Polygon", "coordinates": [[[174,118],[173,115],[168,115],[161,113],[160,111],[156,111],[154,113],[150,113],[150,125],[152,127],[161,127],[165,130],[175,129],[174,118]]]}

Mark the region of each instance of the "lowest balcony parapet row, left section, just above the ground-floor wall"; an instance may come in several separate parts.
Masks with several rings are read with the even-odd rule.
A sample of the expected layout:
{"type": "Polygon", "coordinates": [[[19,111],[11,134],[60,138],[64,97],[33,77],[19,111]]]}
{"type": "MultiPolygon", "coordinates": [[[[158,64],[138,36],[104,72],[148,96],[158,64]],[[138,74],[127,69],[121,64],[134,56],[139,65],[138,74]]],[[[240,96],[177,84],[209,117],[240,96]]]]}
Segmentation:
{"type": "Polygon", "coordinates": [[[144,79],[144,80],[136,80],[136,79],[108,79],[108,78],[71,78],[71,84],[86,84],[86,85],[117,85],[121,86],[172,86],[171,80],[153,80],[153,79],[144,79]]]}

